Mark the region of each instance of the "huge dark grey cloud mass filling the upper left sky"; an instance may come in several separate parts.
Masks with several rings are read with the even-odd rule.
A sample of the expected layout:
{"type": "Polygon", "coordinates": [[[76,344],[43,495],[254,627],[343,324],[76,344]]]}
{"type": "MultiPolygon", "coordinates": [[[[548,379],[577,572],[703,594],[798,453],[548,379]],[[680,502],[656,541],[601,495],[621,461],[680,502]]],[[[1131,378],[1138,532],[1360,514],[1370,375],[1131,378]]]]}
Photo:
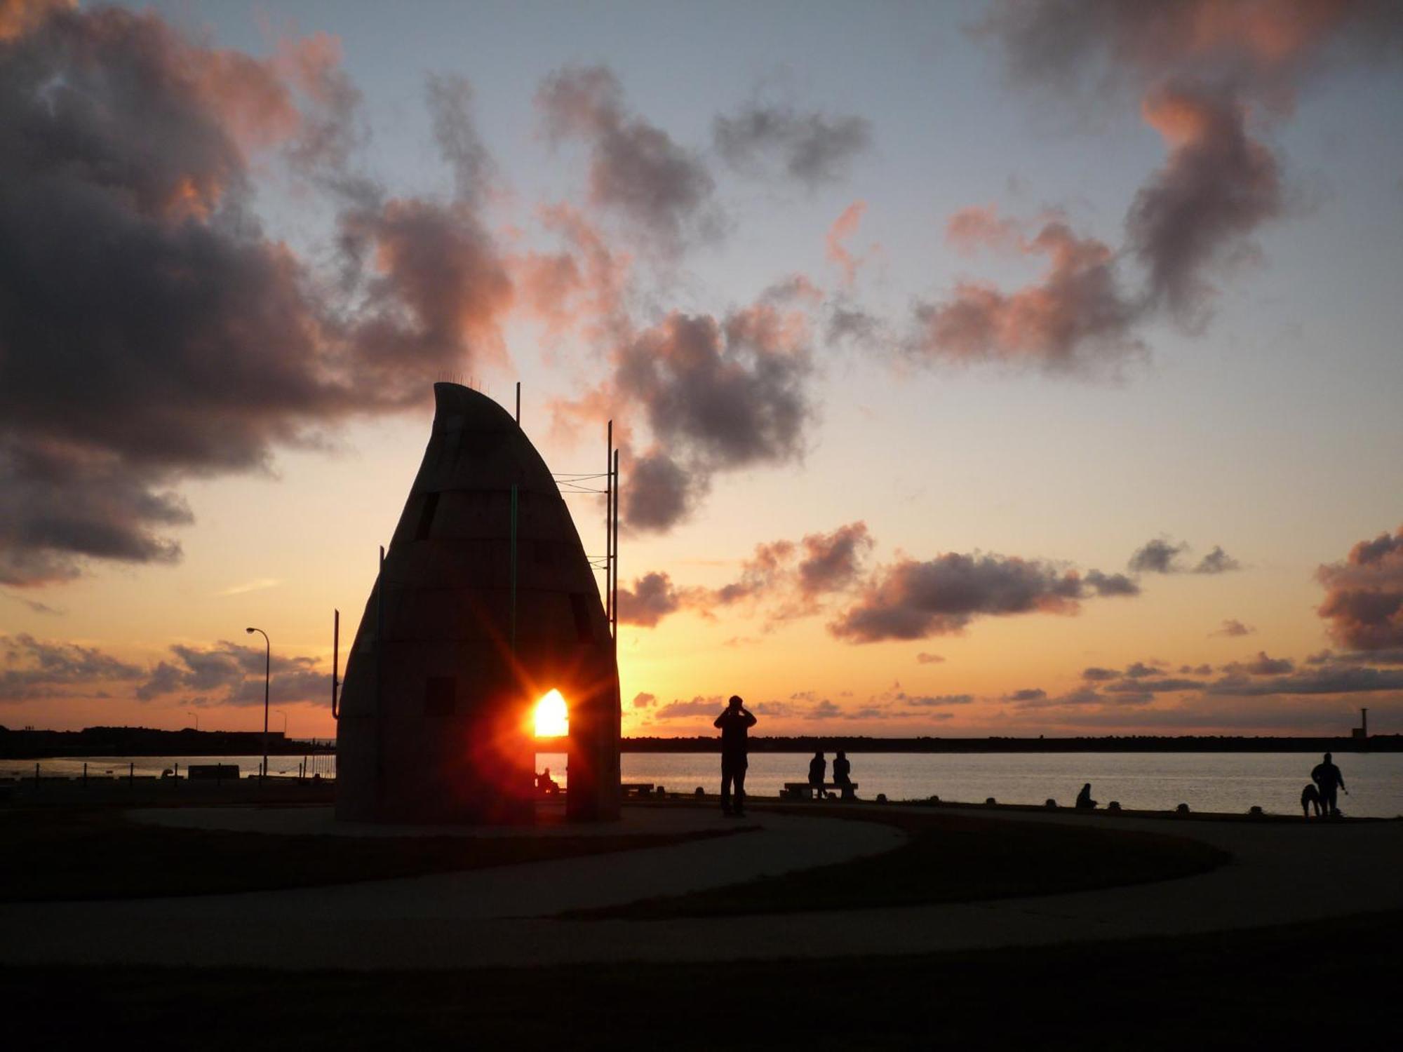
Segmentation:
{"type": "Polygon", "coordinates": [[[376,198],[342,167],[355,98],[324,36],[261,60],[98,7],[0,46],[0,581],[174,561],[182,480],[501,355],[511,286],[471,202],[376,198]],[[260,227],[278,157],[344,208],[342,282],[260,227]]]}

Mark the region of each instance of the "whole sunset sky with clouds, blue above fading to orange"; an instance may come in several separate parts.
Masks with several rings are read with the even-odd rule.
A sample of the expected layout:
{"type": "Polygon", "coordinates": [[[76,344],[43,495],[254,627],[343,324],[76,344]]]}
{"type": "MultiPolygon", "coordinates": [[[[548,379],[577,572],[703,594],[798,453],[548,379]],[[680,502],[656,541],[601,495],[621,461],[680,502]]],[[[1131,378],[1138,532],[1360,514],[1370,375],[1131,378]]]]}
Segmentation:
{"type": "Polygon", "coordinates": [[[334,735],[455,379],[623,436],[627,735],[1403,732],[1400,102],[1386,0],[0,0],[0,725],[258,626],[334,735]]]}

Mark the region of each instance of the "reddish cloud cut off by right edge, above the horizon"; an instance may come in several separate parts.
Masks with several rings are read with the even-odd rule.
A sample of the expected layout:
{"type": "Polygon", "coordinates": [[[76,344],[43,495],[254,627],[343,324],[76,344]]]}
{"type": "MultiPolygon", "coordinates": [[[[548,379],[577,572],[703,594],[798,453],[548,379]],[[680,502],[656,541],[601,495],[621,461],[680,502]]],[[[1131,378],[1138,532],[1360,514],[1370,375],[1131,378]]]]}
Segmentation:
{"type": "Polygon", "coordinates": [[[1326,595],[1316,613],[1330,637],[1358,651],[1403,648],[1403,526],[1361,540],[1343,562],[1316,571],[1326,595]]]}

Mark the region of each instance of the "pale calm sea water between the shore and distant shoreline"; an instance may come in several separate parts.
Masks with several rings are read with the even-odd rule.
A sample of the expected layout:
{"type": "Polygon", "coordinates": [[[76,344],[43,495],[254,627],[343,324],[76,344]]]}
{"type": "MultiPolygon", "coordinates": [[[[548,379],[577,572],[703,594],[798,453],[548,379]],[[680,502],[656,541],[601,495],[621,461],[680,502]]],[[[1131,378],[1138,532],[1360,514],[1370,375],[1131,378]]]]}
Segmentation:
{"type": "MultiPolygon", "coordinates": [[[[832,763],[832,753],[826,755],[832,763]]],[[[808,756],[756,753],[751,756],[746,790],[759,797],[779,795],[786,781],[804,781],[808,756]]],[[[1070,805],[1082,783],[1092,783],[1100,802],[1118,801],[1124,808],[1170,809],[1188,804],[1193,811],[1246,812],[1260,805],[1271,814],[1289,815],[1301,808],[1301,790],[1315,753],[852,753],[857,795],[873,800],[941,800],[1000,804],[1042,804],[1055,800],[1070,805]]],[[[135,770],[159,776],[191,763],[237,763],[244,776],[258,773],[260,756],[90,756],[39,760],[41,777],[77,777],[84,762],[88,776],[114,777],[135,770]]],[[[300,756],[274,756],[272,774],[297,773],[300,756]]],[[[0,777],[34,777],[34,760],[0,760],[0,777]]],[[[1350,795],[1340,795],[1340,809],[1360,818],[1403,816],[1403,753],[1338,753],[1350,795]]],[[[536,769],[550,767],[565,784],[565,755],[537,753],[536,769]]],[[[624,753],[623,780],[665,785],[673,793],[707,793],[720,788],[721,759],[716,753],[624,753]]],[[[334,756],[309,757],[309,773],[335,774],[334,756]]],[[[829,766],[832,774],[832,766],[829,766]]]]}

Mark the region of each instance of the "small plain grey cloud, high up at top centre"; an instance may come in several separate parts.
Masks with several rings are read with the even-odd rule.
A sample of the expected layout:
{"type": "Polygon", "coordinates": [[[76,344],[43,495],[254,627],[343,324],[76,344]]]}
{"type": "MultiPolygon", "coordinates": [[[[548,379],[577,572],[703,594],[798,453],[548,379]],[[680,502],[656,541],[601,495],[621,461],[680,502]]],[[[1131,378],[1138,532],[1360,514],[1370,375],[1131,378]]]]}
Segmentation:
{"type": "Polygon", "coordinates": [[[793,107],[748,102],[711,126],[717,153],[746,174],[779,167],[815,189],[843,178],[871,146],[871,122],[861,116],[801,114],[793,107]]]}

